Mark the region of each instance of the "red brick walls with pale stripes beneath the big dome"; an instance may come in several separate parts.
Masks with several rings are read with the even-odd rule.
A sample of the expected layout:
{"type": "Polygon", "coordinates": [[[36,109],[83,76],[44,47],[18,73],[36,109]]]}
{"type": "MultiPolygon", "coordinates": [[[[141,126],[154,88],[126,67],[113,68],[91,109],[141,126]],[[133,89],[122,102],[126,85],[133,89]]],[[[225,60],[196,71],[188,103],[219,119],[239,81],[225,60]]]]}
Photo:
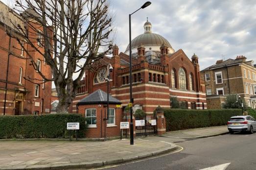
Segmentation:
{"type": "MultiPolygon", "coordinates": [[[[128,59],[128,56],[123,53],[120,53],[119,57],[125,61],[128,59]]],[[[188,107],[190,107],[190,102],[195,102],[197,109],[207,108],[205,86],[200,79],[199,64],[193,64],[181,49],[170,56],[162,55],[161,57],[162,65],[151,65],[147,62],[139,63],[138,61],[134,63],[136,61],[133,61],[133,80],[134,75],[137,75],[137,82],[134,82],[132,85],[134,105],[139,104],[147,114],[152,114],[159,105],[162,107],[170,107],[170,96],[177,96],[179,101],[188,102],[188,107]],[[186,90],[179,89],[178,72],[181,67],[186,71],[186,90]],[[176,70],[177,88],[171,88],[170,72],[173,68],[176,70]],[[152,73],[152,77],[153,74],[163,75],[164,82],[159,83],[149,80],[149,73],[152,73]],[[190,73],[193,75],[193,90],[189,89],[190,73]],[[142,78],[142,82],[138,80],[139,74],[142,78]]],[[[106,57],[100,61],[101,65],[99,65],[99,67],[107,66],[108,63],[119,66],[120,63],[116,64],[116,62],[119,62],[118,57],[115,56],[112,59],[106,57]]],[[[93,85],[96,70],[97,69],[95,69],[94,72],[86,72],[85,86],[87,88],[85,88],[84,93],[90,94],[99,88],[103,91],[107,91],[107,83],[93,85]]],[[[110,82],[110,93],[113,97],[122,102],[122,106],[127,106],[130,102],[130,86],[126,82],[127,76],[129,76],[129,67],[127,65],[120,65],[118,68],[114,67],[114,71],[111,73],[111,79],[113,79],[113,81],[110,82]],[[123,77],[125,77],[126,84],[123,84],[123,77]]],[[[85,95],[83,95],[83,97],[85,97],[85,95]]],[[[82,97],[79,95],[79,97],[75,99],[75,102],[73,102],[73,112],[75,111],[74,105],[80,99],[82,99],[82,97]]]]}

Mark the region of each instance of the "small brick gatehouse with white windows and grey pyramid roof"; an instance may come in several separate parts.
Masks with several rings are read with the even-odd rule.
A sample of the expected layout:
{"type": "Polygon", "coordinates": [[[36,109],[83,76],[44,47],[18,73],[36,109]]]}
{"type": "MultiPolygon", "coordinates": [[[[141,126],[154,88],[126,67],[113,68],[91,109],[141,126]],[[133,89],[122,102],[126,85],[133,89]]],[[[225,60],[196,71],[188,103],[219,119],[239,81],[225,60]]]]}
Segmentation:
{"type": "Polygon", "coordinates": [[[109,94],[107,120],[107,93],[98,89],[77,103],[77,113],[88,118],[87,138],[106,138],[120,135],[121,102],[109,94]]]}

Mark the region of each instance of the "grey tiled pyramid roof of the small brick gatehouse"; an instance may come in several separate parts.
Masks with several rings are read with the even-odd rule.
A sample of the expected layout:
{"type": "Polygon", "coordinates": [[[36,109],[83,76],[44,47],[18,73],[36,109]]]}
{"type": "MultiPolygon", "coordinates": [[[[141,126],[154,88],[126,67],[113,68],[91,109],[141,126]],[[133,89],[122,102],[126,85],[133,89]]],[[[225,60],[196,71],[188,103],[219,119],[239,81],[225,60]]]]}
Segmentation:
{"type": "MultiPolygon", "coordinates": [[[[98,89],[77,103],[77,105],[89,104],[107,104],[107,93],[98,89]]],[[[109,94],[109,104],[121,104],[121,102],[109,94]]]]}

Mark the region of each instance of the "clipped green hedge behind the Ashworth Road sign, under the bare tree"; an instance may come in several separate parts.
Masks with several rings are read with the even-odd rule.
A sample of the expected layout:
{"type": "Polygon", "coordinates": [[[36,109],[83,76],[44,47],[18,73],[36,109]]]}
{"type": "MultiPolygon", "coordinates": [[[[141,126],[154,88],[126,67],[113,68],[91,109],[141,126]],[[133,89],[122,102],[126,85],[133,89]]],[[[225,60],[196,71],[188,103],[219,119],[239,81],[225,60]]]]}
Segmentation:
{"type": "MultiPolygon", "coordinates": [[[[79,114],[0,116],[0,139],[69,138],[68,122],[79,122],[78,137],[85,137],[86,118],[79,114]]],[[[75,132],[72,130],[72,136],[75,132]]]]}

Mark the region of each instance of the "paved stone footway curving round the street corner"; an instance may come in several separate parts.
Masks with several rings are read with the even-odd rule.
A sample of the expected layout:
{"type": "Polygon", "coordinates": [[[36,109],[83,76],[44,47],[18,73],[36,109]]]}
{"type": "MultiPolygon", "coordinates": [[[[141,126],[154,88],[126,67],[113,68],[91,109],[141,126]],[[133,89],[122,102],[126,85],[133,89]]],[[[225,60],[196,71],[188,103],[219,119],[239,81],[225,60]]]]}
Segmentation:
{"type": "Polygon", "coordinates": [[[179,149],[174,138],[227,133],[227,126],[179,130],[162,136],[109,141],[0,140],[0,170],[90,169],[179,149]]]}

